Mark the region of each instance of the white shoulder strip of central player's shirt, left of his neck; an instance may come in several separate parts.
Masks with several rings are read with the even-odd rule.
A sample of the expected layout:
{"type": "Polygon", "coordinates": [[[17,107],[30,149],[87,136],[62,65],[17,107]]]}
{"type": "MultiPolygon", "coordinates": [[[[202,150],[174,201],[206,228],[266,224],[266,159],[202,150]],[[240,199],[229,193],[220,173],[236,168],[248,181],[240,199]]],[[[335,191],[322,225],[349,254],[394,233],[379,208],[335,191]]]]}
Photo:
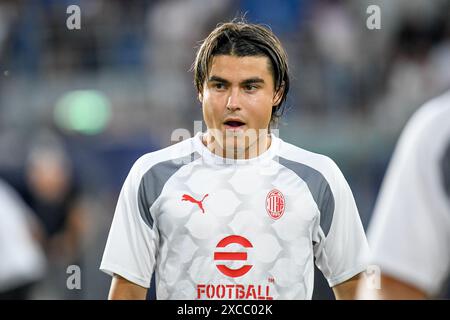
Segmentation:
{"type": "Polygon", "coordinates": [[[160,150],[146,153],[135,161],[131,172],[142,177],[154,165],[189,156],[195,151],[193,138],[185,139],[160,150]]]}

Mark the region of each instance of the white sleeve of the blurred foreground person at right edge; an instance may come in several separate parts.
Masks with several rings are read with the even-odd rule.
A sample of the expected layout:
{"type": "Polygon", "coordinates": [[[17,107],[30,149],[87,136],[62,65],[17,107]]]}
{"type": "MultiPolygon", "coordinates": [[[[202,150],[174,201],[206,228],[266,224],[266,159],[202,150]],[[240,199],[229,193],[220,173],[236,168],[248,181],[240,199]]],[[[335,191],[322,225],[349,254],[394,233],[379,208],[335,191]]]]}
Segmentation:
{"type": "Polygon", "coordinates": [[[450,219],[437,198],[433,156],[437,137],[421,139],[416,124],[407,128],[393,155],[370,224],[369,243],[371,263],[382,273],[432,296],[450,270],[450,219]]]}

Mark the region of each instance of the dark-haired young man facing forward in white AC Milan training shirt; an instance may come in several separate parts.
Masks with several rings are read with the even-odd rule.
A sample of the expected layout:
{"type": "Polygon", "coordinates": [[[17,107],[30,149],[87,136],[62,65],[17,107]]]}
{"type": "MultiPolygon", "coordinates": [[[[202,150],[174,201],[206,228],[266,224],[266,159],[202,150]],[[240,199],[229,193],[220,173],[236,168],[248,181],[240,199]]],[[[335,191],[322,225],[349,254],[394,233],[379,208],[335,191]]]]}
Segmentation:
{"type": "Polygon", "coordinates": [[[269,133],[289,90],[265,27],[218,26],[194,62],[207,131],[147,154],[125,181],[101,270],[109,298],[310,299],[314,260],[352,298],[367,242],[329,158],[269,133]]]}

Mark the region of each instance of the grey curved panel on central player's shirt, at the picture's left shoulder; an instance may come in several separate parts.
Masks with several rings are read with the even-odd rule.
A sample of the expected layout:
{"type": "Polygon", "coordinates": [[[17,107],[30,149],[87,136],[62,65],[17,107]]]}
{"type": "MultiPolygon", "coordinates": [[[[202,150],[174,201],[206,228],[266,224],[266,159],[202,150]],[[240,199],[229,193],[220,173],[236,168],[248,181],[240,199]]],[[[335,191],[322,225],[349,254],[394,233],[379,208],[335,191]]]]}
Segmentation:
{"type": "Polygon", "coordinates": [[[153,228],[153,218],[150,208],[161,195],[167,180],[181,167],[198,159],[198,153],[193,152],[187,156],[170,159],[153,165],[141,178],[138,191],[139,213],[144,222],[153,228]]]}

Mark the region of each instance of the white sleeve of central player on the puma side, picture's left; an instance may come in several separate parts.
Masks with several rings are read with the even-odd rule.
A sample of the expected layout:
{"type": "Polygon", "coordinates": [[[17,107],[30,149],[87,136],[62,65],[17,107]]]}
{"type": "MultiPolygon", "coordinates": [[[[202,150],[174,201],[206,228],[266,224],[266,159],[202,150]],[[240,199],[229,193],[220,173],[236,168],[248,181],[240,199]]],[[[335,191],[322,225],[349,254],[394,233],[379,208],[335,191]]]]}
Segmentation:
{"type": "Polygon", "coordinates": [[[141,178],[138,160],[120,192],[100,270],[149,288],[158,234],[156,227],[146,223],[139,211],[140,207],[149,211],[148,206],[139,204],[141,178]]]}

